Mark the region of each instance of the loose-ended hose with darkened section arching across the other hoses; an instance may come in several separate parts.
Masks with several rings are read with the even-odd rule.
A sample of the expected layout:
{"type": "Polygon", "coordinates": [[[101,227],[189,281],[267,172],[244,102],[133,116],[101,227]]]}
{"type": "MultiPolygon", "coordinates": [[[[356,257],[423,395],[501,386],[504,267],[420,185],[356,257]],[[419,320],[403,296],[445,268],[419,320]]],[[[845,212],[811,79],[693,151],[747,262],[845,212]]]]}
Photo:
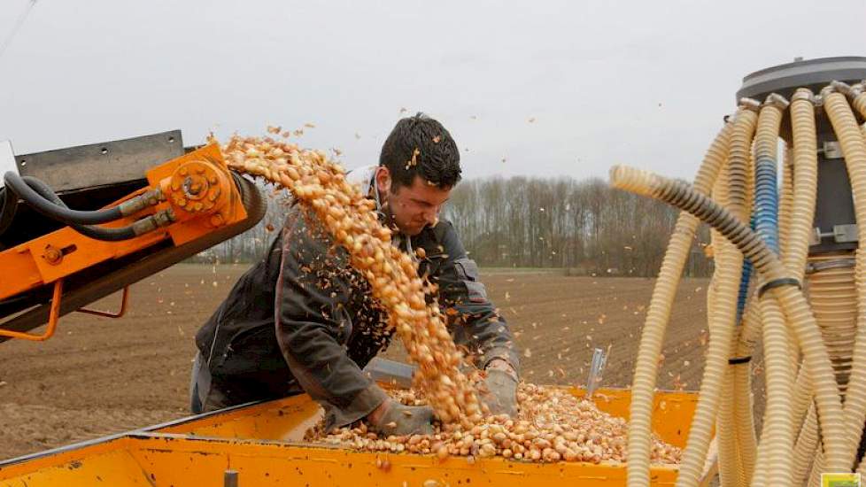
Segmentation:
{"type": "MultiPolygon", "coordinates": [[[[830,357],[821,340],[820,330],[806,298],[798,287],[792,285],[793,280],[787,277],[782,262],[737,216],[682,182],[671,181],[630,167],[615,166],[611,169],[611,183],[615,188],[655,197],[692,213],[722,232],[723,236],[752,260],[764,282],[768,283],[764,285],[764,290],[771,292],[778,299],[803,351],[815,390],[818,424],[823,434],[827,471],[850,471],[849,457],[853,455],[847,454],[842,405],[830,357]]],[[[682,471],[680,475],[683,475],[682,471]]]]}

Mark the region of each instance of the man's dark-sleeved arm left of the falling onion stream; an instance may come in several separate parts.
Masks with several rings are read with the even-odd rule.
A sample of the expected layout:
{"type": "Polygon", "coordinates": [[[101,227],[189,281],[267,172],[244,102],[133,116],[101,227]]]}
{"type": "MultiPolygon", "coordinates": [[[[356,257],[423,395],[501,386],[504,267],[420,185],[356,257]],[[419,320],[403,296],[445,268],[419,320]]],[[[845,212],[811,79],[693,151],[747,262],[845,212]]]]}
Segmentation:
{"type": "Polygon", "coordinates": [[[332,428],[360,420],[388,397],[346,354],[352,332],[343,308],[351,292],[348,257],[313,218],[293,208],[283,229],[276,336],[292,375],[325,407],[332,428]]]}

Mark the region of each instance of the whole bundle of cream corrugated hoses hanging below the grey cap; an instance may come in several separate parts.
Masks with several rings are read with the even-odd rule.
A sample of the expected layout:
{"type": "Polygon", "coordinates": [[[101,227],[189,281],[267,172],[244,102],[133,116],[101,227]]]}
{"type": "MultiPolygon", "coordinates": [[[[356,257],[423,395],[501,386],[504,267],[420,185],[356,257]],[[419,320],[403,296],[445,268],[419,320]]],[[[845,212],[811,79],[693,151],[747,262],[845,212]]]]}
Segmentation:
{"type": "MultiPolygon", "coordinates": [[[[614,187],[683,210],[638,347],[630,487],[649,485],[658,358],[699,220],[714,229],[715,273],[707,293],[710,339],[677,486],[700,481],[714,428],[725,487],[801,485],[816,482],[823,472],[866,470],[866,463],[854,465],[866,422],[866,253],[856,252],[855,261],[845,251],[808,257],[817,190],[816,99],[808,89],[798,89],[790,106],[776,94],[760,105],[741,102],[707,150],[692,186],[629,167],[611,170],[614,187]],[[792,134],[779,184],[777,147],[786,117],[792,134]],[[756,271],[752,280],[750,265],[756,271]],[[809,300],[800,290],[804,278],[809,300]],[[743,294],[746,290],[751,291],[743,294]],[[748,296],[739,308],[738,295],[748,296]],[[864,304],[860,309],[858,302],[864,304]],[[760,444],[749,367],[759,336],[767,383],[760,444]]],[[[819,99],[846,160],[856,220],[863,222],[858,239],[866,242],[866,128],[857,125],[852,110],[866,117],[866,92],[862,85],[834,82],[819,99]]]]}

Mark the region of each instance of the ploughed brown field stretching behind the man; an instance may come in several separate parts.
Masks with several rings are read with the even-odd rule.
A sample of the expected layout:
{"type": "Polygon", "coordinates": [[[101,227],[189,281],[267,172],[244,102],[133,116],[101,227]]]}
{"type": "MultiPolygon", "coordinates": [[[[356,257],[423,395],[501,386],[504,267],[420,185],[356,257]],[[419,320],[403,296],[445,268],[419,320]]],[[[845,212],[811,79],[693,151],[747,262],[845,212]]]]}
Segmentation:
{"type": "MultiPolygon", "coordinates": [[[[0,345],[0,459],[187,415],[193,336],[244,270],[178,265],[135,284],[120,320],[75,313],[48,342],[0,345]]],[[[610,345],[604,385],[630,384],[653,280],[491,269],[483,282],[514,327],[527,381],[584,383],[592,348],[610,345]]],[[[699,385],[706,290],[703,279],[680,287],[661,388],[699,385]]]]}

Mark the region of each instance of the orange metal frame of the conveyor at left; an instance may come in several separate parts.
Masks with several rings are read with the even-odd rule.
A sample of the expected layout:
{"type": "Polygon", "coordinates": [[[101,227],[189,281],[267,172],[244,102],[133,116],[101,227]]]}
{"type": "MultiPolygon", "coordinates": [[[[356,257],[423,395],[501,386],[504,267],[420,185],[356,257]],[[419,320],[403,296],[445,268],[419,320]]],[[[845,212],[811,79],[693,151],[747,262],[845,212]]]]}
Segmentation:
{"type": "MultiPolygon", "coordinates": [[[[198,174],[191,175],[199,179],[204,177],[198,174]]],[[[73,228],[65,227],[0,252],[0,269],[3,269],[5,274],[4,279],[0,279],[0,300],[54,284],[49,326],[43,335],[0,329],[0,336],[35,341],[50,338],[57,327],[63,279],[66,276],[98,263],[141,251],[168,238],[172,239],[174,245],[181,245],[205,236],[216,228],[231,225],[247,217],[244,205],[241,204],[239,190],[232,181],[228,166],[216,144],[206,145],[197,151],[152,168],[147,173],[147,179],[149,182],[147,188],[136,190],[109,206],[119,205],[151,189],[161,189],[166,197],[165,201],[140,213],[112,221],[105,227],[127,226],[135,220],[171,208],[176,220],[165,228],[159,228],[130,240],[105,242],[83,236],[73,228]],[[211,193],[208,194],[209,201],[216,201],[220,205],[211,205],[213,209],[202,211],[201,205],[195,207],[189,204],[189,195],[183,194],[183,188],[177,183],[178,177],[182,178],[188,174],[188,168],[193,168],[199,173],[204,171],[205,176],[210,176],[213,186],[211,193]]],[[[99,316],[120,317],[126,313],[127,306],[128,290],[124,290],[118,313],[83,308],[78,311],[99,316]]]]}

